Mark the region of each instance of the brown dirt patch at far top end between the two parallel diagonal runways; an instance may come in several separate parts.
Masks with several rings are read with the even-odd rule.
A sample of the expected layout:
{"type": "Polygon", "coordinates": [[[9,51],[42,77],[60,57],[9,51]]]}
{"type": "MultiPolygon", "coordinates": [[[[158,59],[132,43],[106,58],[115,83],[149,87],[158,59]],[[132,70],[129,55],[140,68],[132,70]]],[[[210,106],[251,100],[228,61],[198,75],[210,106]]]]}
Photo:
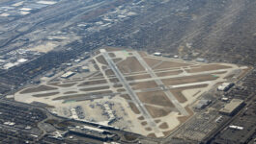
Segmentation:
{"type": "Polygon", "coordinates": [[[144,67],[135,57],[128,57],[127,60],[119,62],[117,66],[122,73],[145,71],[144,67]]]}

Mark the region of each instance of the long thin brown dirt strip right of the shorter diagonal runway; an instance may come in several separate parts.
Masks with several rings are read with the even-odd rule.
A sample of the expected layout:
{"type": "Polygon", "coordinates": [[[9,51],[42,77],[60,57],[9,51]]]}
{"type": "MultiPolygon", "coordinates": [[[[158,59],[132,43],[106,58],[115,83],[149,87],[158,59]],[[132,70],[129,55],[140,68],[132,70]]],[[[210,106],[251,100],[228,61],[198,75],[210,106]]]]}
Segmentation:
{"type": "Polygon", "coordinates": [[[213,77],[213,75],[205,74],[205,75],[185,76],[180,78],[163,79],[162,83],[166,85],[189,84],[189,83],[213,81],[213,80],[216,80],[217,78],[218,77],[213,77]]]}

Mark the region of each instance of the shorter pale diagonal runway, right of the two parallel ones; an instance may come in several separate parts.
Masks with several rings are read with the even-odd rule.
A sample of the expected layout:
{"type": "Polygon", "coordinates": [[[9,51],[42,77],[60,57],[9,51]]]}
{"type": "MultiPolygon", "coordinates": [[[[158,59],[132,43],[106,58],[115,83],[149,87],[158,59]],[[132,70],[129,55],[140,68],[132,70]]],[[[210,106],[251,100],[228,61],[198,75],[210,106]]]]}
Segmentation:
{"type": "MultiPolygon", "coordinates": [[[[145,62],[145,60],[142,60],[140,55],[137,52],[132,52],[133,55],[137,60],[139,60],[140,64],[149,72],[152,78],[157,78],[155,72],[152,70],[152,68],[148,65],[148,63],[145,62]]],[[[163,89],[165,89],[165,85],[161,82],[160,79],[155,79],[155,82],[158,86],[161,86],[163,89]]],[[[167,88],[168,89],[168,88],[167,88]]],[[[187,111],[185,108],[181,106],[181,104],[178,102],[178,100],[175,98],[175,96],[169,91],[169,90],[164,90],[163,91],[168,98],[171,100],[175,108],[177,108],[183,115],[188,115],[187,111]]]]}

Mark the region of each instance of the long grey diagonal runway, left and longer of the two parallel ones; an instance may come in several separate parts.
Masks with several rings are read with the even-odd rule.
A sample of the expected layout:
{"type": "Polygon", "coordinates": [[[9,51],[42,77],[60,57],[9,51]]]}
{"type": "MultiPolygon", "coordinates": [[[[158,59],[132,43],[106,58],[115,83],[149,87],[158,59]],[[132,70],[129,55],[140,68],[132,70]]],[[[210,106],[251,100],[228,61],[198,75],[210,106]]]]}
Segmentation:
{"type": "Polygon", "coordinates": [[[128,91],[128,94],[130,95],[132,101],[135,103],[136,107],[139,109],[140,112],[142,112],[143,116],[146,118],[146,120],[149,122],[150,126],[154,129],[155,132],[159,132],[157,129],[156,123],[153,120],[152,116],[148,112],[148,110],[144,107],[142,102],[139,100],[137,94],[131,89],[130,85],[128,84],[126,78],[123,76],[121,71],[118,69],[114,61],[109,58],[108,54],[106,52],[101,52],[104,59],[107,61],[110,68],[114,71],[115,75],[118,77],[120,82],[124,84],[125,88],[128,91]]]}

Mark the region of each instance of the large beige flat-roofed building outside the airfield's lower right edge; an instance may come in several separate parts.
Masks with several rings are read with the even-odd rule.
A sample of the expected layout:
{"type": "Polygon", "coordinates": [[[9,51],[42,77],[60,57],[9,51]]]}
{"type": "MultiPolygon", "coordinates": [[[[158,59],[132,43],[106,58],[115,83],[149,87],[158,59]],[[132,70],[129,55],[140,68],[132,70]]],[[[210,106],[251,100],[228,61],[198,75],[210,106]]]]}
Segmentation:
{"type": "Polygon", "coordinates": [[[243,101],[240,99],[233,99],[230,103],[228,103],[224,108],[221,108],[219,112],[224,115],[234,115],[238,112],[243,106],[243,101]]]}

